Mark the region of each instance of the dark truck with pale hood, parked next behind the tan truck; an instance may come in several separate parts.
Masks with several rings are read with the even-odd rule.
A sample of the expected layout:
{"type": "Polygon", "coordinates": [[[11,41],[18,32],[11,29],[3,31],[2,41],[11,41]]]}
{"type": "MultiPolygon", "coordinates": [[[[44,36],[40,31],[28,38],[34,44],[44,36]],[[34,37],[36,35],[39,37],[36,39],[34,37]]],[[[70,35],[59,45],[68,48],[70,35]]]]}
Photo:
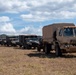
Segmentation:
{"type": "Polygon", "coordinates": [[[24,49],[35,49],[37,47],[37,35],[19,35],[19,45],[24,49]]]}

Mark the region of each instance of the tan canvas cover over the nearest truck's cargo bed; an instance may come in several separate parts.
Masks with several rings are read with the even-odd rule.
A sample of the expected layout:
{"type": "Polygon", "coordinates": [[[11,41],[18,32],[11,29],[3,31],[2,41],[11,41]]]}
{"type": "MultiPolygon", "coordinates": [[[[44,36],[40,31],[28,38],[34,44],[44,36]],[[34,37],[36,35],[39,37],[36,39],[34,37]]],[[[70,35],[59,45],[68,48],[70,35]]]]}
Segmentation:
{"type": "Polygon", "coordinates": [[[64,26],[75,26],[73,23],[54,23],[47,26],[44,26],[42,29],[43,41],[52,41],[53,40],[53,32],[58,28],[62,28],[64,26]]]}

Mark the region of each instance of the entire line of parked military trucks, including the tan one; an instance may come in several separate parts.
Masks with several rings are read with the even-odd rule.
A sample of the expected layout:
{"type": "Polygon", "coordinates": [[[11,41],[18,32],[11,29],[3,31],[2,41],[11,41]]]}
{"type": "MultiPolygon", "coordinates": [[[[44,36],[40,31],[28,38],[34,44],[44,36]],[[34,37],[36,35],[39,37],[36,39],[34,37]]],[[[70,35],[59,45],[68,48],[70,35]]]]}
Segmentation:
{"type": "Polygon", "coordinates": [[[54,23],[42,28],[42,37],[37,35],[0,35],[0,45],[20,46],[24,49],[43,49],[45,54],[55,51],[56,56],[64,52],[76,52],[76,26],[73,23],[54,23]]]}

